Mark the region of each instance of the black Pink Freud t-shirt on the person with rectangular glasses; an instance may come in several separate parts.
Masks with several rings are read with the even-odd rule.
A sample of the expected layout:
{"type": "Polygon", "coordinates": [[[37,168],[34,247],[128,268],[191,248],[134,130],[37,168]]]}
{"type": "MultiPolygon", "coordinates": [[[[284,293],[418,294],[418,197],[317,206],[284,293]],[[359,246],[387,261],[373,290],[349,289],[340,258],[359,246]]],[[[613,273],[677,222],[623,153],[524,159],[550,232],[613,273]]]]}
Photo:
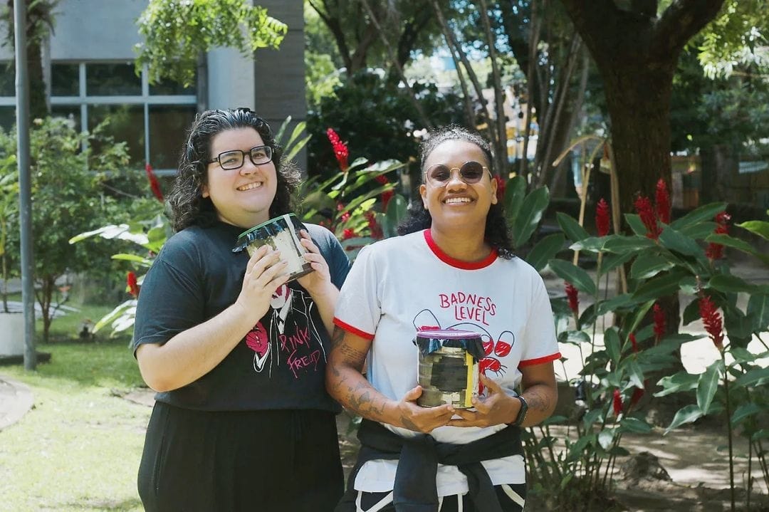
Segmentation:
{"type": "MultiPolygon", "coordinates": [[[[350,267],[347,254],[331,231],[305,225],[328,263],[331,282],[341,287],[350,267]]],[[[232,252],[242,231],[218,222],[168,239],[141,286],[134,351],[140,344],[164,344],[235,303],[248,262],[246,251],[232,252]]],[[[267,314],[213,370],[155,399],[204,411],[338,411],[324,384],[328,347],[315,301],[292,281],[278,288],[267,314]]]]}

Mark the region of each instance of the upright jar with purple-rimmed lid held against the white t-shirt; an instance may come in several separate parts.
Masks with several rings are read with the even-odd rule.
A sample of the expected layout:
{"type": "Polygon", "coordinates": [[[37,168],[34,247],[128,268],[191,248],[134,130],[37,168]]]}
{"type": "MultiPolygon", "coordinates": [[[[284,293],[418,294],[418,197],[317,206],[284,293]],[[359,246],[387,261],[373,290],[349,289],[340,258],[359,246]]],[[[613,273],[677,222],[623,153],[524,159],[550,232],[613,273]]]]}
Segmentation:
{"type": "Polygon", "coordinates": [[[418,348],[417,380],[422,387],[417,404],[472,407],[472,398],[478,396],[478,362],[484,357],[481,334],[431,329],[419,331],[414,344],[418,348]]]}

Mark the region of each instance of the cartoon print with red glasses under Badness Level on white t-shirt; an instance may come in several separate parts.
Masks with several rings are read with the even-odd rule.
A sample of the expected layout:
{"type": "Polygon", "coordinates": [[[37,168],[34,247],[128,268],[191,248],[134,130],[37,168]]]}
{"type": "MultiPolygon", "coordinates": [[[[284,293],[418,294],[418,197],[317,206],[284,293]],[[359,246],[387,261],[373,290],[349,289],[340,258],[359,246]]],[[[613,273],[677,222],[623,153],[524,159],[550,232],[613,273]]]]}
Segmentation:
{"type": "MultiPolygon", "coordinates": [[[[441,308],[444,307],[443,296],[444,294],[441,294],[441,308]]],[[[491,302],[491,299],[488,299],[488,303],[490,304],[488,313],[493,311],[491,316],[494,316],[494,314],[496,314],[496,306],[491,302]]],[[[478,317],[484,318],[484,320],[486,319],[483,315],[478,315],[478,317]]],[[[457,315],[454,315],[454,318],[457,318],[457,315]]],[[[474,331],[481,334],[485,356],[478,363],[478,371],[487,377],[490,377],[489,373],[494,374],[495,377],[502,377],[507,373],[508,367],[501,363],[501,358],[510,354],[511,349],[515,344],[515,334],[513,334],[512,331],[502,331],[498,337],[494,337],[489,333],[486,327],[474,324],[473,322],[461,321],[456,324],[442,326],[441,322],[438,321],[438,318],[436,318],[433,312],[429,309],[419,311],[414,317],[413,324],[417,331],[425,331],[428,329],[457,329],[459,331],[474,331]]],[[[486,325],[488,326],[488,324],[486,325]]],[[[480,384],[478,392],[482,393],[483,390],[484,386],[483,384],[480,384]]]]}

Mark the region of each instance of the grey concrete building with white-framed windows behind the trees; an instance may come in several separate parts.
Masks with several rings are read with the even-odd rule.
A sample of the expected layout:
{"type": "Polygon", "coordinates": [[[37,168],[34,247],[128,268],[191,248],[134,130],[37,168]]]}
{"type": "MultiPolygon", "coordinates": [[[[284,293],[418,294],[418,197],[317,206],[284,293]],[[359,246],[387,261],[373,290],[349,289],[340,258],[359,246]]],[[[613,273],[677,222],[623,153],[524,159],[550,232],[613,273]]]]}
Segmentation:
{"type": "MultiPolygon", "coordinates": [[[[112,116],[112,135],[128,143],[137,168],[149,162],[160,174],[175,171],[185,129],[205,108],[254,108],[277,130],[286,116],[305,119],[302,2],[258,0],[288,25],[279,50],[244,58],[217,48],[205,58],[198,86],[174,82],[149,85],[136,76],[136,19],[148,0],[62,0],[55,9],[55,33],[44,49],[44,74],[52,113],[91,130],[112,116]]],[[[5,27],[0,27],[5,32],[5,27]]],[[[0,125],[15,121],[12,48],[0,48],[0,125]]],[[[303,157],[300,157],[300,160],[303,157]]],[[[302,167],[303,161],[299,162],[302,167]]]]}

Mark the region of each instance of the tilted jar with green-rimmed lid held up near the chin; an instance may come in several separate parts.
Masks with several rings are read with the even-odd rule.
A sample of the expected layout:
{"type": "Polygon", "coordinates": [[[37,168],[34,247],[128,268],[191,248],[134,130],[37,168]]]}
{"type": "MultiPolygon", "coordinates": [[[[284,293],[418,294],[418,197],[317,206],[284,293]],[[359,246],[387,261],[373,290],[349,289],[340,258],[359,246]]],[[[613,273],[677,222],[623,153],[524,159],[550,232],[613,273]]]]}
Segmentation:
{"type": "Polygon", "coordinates": [[[310,263],[305,260],[307,249],[300,243],[300,229],[307,228],[295,214],[271,218],[248,231],[243,231],[238,236],[238,243],[232,252],[245,249],[251,256],[262,245],[269,245],[273,250],[281,251],[281,261],[288,263],[288,281],[294,281],[312,271],[310,263]]]}

